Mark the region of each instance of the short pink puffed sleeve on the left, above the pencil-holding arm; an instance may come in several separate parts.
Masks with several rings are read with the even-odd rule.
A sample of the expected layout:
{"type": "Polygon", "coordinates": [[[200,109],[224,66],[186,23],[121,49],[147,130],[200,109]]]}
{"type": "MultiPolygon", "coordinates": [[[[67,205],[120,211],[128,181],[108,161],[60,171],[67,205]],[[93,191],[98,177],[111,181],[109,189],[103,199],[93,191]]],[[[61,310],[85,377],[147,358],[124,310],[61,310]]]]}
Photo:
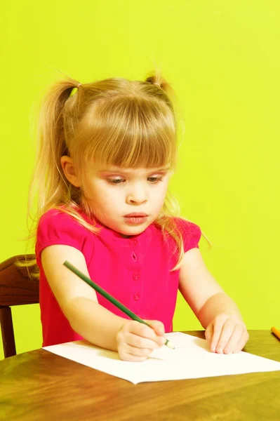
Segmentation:
{"type": "Polygon", "coordinates": [[[48,246],[63,244],[82,251],[88,231],[71,215],[58,210],[48,210],[39,220],[36,233],[36,258],[48,246]]]}

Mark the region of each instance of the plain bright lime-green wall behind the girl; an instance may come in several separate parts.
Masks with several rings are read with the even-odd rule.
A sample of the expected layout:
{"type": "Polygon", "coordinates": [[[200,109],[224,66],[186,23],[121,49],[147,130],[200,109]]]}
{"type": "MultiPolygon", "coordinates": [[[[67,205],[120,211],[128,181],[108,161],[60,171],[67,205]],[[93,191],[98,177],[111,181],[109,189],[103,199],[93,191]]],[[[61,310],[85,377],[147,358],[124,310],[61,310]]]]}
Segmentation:
{"type": "MultiPolygon", "coordinates": [[[[0,259],[26,250],[42,91],[60,72],[143,79],[157,63],[185,119],[171,181],[181,213],[215,244],[201,241],[206,265],[247,327],[280,326],[279,1],[6,0],[2,12],[0,259]]],[[[40,347],[39,306],[13,319],[18,353],[40,347]]],[[[181,298],[174,328],[201,328],[181,298]]]]}

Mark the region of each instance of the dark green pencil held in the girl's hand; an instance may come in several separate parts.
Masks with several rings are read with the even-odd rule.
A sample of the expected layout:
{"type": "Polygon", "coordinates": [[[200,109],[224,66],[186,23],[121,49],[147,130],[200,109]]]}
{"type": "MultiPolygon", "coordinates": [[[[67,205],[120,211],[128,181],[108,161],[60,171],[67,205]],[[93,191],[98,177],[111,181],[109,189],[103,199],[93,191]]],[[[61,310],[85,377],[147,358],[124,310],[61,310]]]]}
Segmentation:
{"type": "MultiPolygon", "coordinates": [[[[107,293],[97,283],[93,282],[90,278],[88,278],[88,276],[86,276],[81,271],[79,271],[79,269],[76,269],[76,267],[74,267],[73,265],[71,265],[71,263],[69,263],[67,260],[65,260],[65,262],[63,263],[63,265],[65,265],[66,267],[68,267],[68,269],[70,269],[72,272],[74,272],[74,274],[76,274],[77,276],[79,276],[79,278],[83,279],[83,281],[85,281],[86,283],[88,283],[88,285],[91,286],[91,288],[97,290],[98,293],[100,293],[101,295],[103,295],[103,297],[107,298],[107,300],[109,300],[109,302],[112,302],[112,304],[114,304],[116,307],[118,307],[118,309],[120,309],[122,312],[124,312],[127,316],[131,317],[131,319],[136,320],[136,321],[139,321],[140,323],[143,323],[143,324],[149,326],[148,323],[146,323],[144,320],[140,319],[140,317],[136,316],[136,314],[134,314],[133,312],[131,312],[130,309],[128,309],[123,304],[121,304],[121,302],[119,302],[118,300],[116,300],[116,298],[112,297],[112,295],[110,295],[109,293],[107,293]]],[[[171,349],[174,349],[173,345],[171,345],[171,342],[168,339],[166,339],[166,343],[164,345],[166,345],[166,347],[169,347],[171,349]]]]}

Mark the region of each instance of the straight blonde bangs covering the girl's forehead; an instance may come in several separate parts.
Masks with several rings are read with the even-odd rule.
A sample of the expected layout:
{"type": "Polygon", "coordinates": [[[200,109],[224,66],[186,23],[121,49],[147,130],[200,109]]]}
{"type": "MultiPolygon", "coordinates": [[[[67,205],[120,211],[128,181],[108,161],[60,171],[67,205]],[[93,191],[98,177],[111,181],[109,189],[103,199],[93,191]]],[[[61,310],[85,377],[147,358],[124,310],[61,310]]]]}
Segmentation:
{"type": "Polygon", "coordinates": [[[171,109],[142,98],[95,105],[81,122],[83,159],[123,168],[175,168],[176,133],[171,109]],[[84,123],[84,124],[83,124],[84,123]],[[83,130],[84,129],[84,130],[83,130]]]}

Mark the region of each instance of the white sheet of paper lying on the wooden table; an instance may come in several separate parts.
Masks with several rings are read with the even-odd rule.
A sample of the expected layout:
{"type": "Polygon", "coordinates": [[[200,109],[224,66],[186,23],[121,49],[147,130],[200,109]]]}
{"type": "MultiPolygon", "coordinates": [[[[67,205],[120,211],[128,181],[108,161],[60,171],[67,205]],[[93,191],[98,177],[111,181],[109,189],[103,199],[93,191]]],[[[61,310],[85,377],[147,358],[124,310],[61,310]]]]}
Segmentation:
{"type": "Polygon", "coordinates": [[[167,333],[175,349],[154,349],[146,361],[136,363],[122,361],[119,354],[95,347],[88,342],[67,342],[44,347],[49,352],[128,380],[135,385],[140,382],[160,380],[194,379],[243,373],[280,370],[278,361],[239,352],[239,354],[214,354],[208,342],[192,335],[167,333]]]}

